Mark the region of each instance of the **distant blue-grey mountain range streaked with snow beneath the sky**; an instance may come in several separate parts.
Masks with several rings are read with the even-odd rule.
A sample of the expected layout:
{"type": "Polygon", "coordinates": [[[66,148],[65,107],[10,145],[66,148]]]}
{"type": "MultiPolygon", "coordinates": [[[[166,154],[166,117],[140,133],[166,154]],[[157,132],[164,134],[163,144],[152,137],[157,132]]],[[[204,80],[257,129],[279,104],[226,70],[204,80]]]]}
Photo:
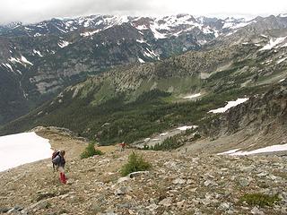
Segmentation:
{"type": "MultiPolygon", "coordinates": [[[[1,26],[0,77],[6,90],[0,93],[7,101],[0,108],[0,124],[27,113],[66,86],[117,64],[154,62],[211,47],[213,39],[215,44],[225,39],[235,42],[248,35],[257,37],[261,29],[283,31],[285,26],[286,17],[281,16],[247,22],[188,14],[161,18],[94,15],[1,26]]],[[[267,34],[262,39],[276,39],[279,34],[286,35],[267,34]]]]}

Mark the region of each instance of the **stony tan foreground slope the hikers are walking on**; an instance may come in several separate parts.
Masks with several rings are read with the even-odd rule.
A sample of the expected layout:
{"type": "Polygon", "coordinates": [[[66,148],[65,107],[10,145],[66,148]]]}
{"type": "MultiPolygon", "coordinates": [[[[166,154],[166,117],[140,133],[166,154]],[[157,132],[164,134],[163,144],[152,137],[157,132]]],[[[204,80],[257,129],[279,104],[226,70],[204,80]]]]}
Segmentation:
{"type": "Polygon", "coordinates": [[[67,151],[68,185],[60,185],[50,160],[2,172],[0,211],[9,211],[4,214],[287,213],[286,156],[218,156],[208,148],[202,154],[141,150],[136,152],[152,169],[131,178],[121,177],[119,169],[132,150],[109,147],[104,156],[80,160],[84,142],[55,131],[40,134],[67,151]],[[248,205],[243,196],[252,193],[279,200],[272,206],[248,205]]]}

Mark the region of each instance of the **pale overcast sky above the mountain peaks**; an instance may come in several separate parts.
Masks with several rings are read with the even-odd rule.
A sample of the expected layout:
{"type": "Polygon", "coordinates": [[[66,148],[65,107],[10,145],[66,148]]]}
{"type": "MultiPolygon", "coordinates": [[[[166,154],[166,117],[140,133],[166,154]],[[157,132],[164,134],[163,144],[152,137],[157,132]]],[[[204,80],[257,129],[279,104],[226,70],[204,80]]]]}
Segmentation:
{"type": "Polygon", "coordinates": [[[245,16],[287,13],[287,0],[0,0],[0,22],[89,14],[245,16]]]}

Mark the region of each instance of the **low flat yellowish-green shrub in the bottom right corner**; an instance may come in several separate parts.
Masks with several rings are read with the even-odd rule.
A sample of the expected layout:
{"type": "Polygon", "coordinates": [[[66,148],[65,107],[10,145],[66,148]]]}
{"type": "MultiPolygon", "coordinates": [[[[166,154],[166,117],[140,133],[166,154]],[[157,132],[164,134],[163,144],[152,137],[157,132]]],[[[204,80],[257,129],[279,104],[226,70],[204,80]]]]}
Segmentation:
{"type": "Polygon", "coordinates": [[[246,193],[240,198],[240,202],[247,202],[248,205],[258,205],[260,207],[273,206],[275,202],[279,202],[278,194],[267,195],[262,193],[246,193]]]}

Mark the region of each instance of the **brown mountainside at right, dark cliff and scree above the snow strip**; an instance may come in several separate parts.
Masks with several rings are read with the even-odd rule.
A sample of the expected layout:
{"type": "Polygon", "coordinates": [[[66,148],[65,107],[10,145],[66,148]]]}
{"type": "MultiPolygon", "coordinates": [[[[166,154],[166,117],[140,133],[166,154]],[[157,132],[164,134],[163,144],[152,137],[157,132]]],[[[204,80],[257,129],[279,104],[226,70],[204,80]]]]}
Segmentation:
{"type": "Polygon", "coordinates": [[[191,135],[180,151],[203,153],[208,149],[210,153],[244,151],[248,154],[274,145],[286,147],[287,82],[270,87],[263,95],[254,95],[223,114],[209,115],[215,117],[204,120],[197,131],[203,138],[194,141],[191,135]]]}

